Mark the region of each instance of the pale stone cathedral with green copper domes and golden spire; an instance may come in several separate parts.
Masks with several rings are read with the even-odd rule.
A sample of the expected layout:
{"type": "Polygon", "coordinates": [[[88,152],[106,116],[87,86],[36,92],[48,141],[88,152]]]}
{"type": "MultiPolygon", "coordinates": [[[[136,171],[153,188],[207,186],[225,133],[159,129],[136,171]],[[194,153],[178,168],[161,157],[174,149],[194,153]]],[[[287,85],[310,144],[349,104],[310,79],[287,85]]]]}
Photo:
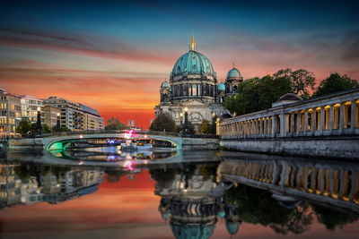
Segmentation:
{"type": "Polygon", "coordinates": [[[198,131],[204,119],[211,122],[214,116],[229,114],[223,107],[223,99],[235,94],[241,81],[241,73],[233,64],[224,83],[218,84],[213,65],[206,55],[197,51],[192,35],[188,53],[181,55],[174,64],[170,81],[161,84],[161,102],[154,107],[155,115],[168,113],[180,125],[181,115],[187,109],[188,121],[198,131]]]}

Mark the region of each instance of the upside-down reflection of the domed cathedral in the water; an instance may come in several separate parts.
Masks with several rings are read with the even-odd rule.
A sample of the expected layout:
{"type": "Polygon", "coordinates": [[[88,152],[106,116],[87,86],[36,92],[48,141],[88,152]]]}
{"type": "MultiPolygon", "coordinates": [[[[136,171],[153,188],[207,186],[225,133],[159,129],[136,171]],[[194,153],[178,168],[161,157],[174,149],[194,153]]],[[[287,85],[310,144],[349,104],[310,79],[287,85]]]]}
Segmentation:
{"type": "MultiPolygon", "coordinates": [[[[225,219],[231,235],[238,232],[241,220],[236,209],[223,203],[228,187],[215,183],[211,167],[214,166],[184,165],[180,169],[157,172],[157,175],[171,175],[162,180],[156,178],[155,194],[162,197],[159,211],[164,220],[170,219],[176,238],[209,238],[218,217],[225,219]]],[[[155,177],[153,171],[152,175],[155,177]]]]}

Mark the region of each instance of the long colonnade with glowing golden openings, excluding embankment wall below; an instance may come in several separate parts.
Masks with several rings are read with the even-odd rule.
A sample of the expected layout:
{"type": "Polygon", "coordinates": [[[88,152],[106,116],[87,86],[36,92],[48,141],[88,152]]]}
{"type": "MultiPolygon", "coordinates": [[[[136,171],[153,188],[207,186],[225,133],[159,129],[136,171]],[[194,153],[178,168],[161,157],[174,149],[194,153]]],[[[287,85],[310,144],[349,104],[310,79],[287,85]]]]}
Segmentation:
{"type": "Polygon", "coordinates": [[[223,140],[359,135],[359,88],[224,119],[223,140]]]}

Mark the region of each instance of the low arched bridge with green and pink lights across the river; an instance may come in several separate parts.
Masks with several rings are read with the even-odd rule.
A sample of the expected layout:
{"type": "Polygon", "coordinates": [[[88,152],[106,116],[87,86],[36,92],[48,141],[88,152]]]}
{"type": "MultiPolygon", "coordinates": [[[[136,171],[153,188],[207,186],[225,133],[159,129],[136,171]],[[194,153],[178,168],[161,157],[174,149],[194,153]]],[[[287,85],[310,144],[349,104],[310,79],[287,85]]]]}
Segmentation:
{"type": "Polygon", "coordinates": [[[59,150],[74,141],[96,139],[150,139],[155,141],[168,141],[176,149],[218,149],[218,139],[214,137],[180,137],[179,134],[153,133],[153,132],[69,132],[44,135],[43,138],[22,139],[9,141],[10,150],[59,150]]]}

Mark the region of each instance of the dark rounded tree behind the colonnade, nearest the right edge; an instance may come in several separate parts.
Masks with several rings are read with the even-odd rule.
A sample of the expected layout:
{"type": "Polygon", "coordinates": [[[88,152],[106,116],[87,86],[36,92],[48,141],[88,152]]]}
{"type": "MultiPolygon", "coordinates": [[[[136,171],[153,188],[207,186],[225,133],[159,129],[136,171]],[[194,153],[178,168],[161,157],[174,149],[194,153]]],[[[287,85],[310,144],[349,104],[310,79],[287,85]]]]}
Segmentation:
{"type": "Polygon", "coordinates": [[[320,85],[315,90],[312,97],[320,97],[322,95],[340,90],[349,90],[358,86],[358,81],[350,79],[346,74],[341,76],[338,73],[332,73],[327,79],[320,81],[320,85]]]}

